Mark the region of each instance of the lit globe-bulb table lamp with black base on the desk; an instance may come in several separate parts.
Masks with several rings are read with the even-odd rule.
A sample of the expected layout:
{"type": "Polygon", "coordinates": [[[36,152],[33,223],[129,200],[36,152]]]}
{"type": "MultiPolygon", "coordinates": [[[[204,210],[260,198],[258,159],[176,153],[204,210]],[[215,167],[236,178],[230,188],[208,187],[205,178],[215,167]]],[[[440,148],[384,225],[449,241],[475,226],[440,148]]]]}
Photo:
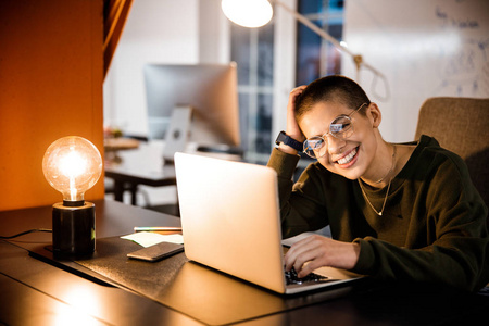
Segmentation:
{"type": "Polygon", "coordinates": [[[63,137],[46,150],[42,172],[48,183],[63,195],[52,206],[54,255],[83,256],[95,251],[95,204],[86,202],[102,173],[98,149],[85,138],[63,137]]]}

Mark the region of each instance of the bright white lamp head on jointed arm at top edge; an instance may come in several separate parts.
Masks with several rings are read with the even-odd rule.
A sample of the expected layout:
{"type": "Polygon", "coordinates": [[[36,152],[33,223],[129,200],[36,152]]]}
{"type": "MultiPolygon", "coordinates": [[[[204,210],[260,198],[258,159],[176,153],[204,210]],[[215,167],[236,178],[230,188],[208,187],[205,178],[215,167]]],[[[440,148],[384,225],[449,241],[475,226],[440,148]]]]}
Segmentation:
{"type": "Polygon", "coordinates": [[[274,14],[267,0],[223,0],[221,8],[229,21],[244,27],[263,26],[274,14]]]}

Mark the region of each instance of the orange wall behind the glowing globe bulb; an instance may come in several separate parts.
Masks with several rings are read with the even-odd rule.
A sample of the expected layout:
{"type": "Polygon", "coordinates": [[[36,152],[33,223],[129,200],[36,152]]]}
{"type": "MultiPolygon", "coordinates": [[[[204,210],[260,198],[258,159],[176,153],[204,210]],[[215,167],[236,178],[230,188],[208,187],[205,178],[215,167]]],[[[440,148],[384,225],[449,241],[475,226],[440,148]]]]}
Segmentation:
{"type": "Polygon", "coordinates": [[[102,26],[102,1],[0,1],[0,211],[61,201],[41,168],[58,138],[103,153],[102,26]]]}

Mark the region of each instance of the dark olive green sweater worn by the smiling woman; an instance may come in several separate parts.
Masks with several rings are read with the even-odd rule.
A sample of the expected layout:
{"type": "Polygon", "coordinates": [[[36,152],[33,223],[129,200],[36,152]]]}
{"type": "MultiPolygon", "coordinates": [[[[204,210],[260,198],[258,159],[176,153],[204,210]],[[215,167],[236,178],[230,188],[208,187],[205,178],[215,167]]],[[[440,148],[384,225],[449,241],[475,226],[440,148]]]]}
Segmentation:
{"type": "MultiPolygon", "coordinates": [[[[488,210],[464,161],[423,136],[392,179],[383,216],[365,201],[359,180],[310,164],[293,184],[298,155],[277,149],[284,238],[330,226],[331,237],[360,243],[352,269],[380,279],[443,283],[478,290],[489,281],[488,210]]],[[[364,187],[379,210],[387,187],[364,187]]]]}

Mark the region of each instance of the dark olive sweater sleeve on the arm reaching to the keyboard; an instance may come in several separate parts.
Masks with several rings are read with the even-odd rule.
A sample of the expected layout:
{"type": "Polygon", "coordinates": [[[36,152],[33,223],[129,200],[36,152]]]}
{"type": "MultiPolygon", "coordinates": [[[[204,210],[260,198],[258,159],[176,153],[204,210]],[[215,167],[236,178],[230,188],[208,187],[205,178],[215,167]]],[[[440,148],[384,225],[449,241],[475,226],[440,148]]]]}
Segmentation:
{"type": "Polygon", "coordinates": [[[487,206],[459,156],[436,155],[426,171],[432,174],[412,199],[423,223],[410,233],[423,235],[428,244],[404,248],[373,237],[355,239],[361,251],[353,271],[478,290],[489,281],[487,206]]]}

